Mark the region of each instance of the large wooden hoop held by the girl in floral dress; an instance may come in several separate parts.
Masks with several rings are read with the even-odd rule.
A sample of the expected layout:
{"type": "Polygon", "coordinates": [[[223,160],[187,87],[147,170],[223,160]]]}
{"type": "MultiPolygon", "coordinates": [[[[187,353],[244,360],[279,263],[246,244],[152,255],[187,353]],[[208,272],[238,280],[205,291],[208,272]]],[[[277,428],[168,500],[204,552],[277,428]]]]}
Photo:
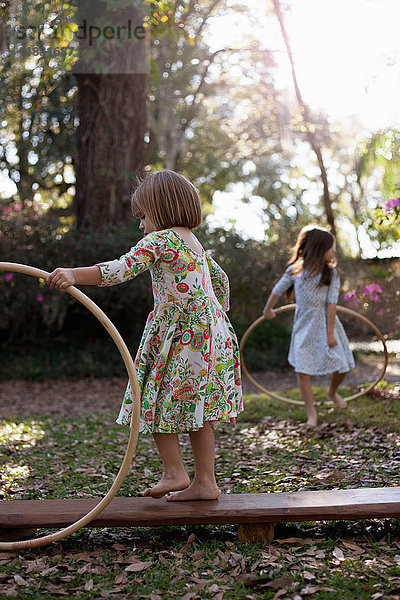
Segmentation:
{"type": "MultiPolygon", "coordinates": [[[[49,276],[49,273],[47,273],[46,271],[42,271],[41,269],[36,269],[35,267],[21,265],[18,263],[0,262],[0,271],[13,271],[16,273],[24,273],[25,275],[32,275],[33,277],[38,277],[40,279],[47,279],[47,277],[49,276]]],[[[130,428],[128,445],[126,448],[124,459],[121,463],[120,469],[112,486],[110,487],[104,498],[102,498],[102,500],[100,500],[100,502],[85,516],[83,516],[75,523],[72,523],[72,525],[69,525],[68,527],[50,535],[45,535],[43,537],[31,540],[1,542],[0,550],[22,550],[26,548],[38,548],[40,546],[45,546],[47,544],[51,544],[52,542],[62,540],[68,535],[71,535],[71,533],[75,533],[76,531],[78,531],[78,529],[80,529],[81,527],[85,527],[85,525],[87,525],[90,521],[97,517],[97,515],[106,508],[106,506],[111,502],[115,494],[120,489],[129,471],[129,467],[136,450],[137,439],[139,435],[140,390],[135,367],[133,365],[133,360],[129,353],[129,350],[116,327],[104,314],[104,312],[97,306],[97,304],[95,304],[90,298],[88,298],[83,292],[81,292],[74,286],[66,288],[65,291],[71,294],[71,296],[73,296],[74,298],[76,298],[76,300],[81,302],[100,321],[100,323],[108,331],[108,333],[114,340],[125,363],[125,367],[128,371],[133,392],[132,424],[130,428]]]]}

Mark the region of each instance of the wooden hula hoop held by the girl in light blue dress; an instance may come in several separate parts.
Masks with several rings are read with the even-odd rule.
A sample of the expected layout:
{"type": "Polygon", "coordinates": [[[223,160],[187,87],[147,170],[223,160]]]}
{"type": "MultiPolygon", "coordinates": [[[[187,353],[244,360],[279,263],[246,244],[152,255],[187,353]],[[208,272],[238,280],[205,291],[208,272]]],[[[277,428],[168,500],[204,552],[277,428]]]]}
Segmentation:
{"type": "MultiPolygon", "coordinates": [[[[276,308],[275,312],[276,312],[276,314],[280,314],[280,313],[286,312],[288,310],[293,310],[294,308],[296,308],[296,304],[285,304],[284,306],[280,306],[279,308],[276,308]]],[[[346,314],[351,315],[353,317],[357,317],[361,321],[364,321],[364,323],[367,323],[367,325],[369,325],[371,327],[371,329],[376,333],[376,335],[378,336],[378,338],[382,342],[382,344],[383,344],[383,352],[384,352],[384,356],[385,356],[384,365],[382,367],[382,370],[381,370],[381,373],[380,373],[379,377],[373,383],[371,383],[370,385],[368,385],[366,388],[363,388],[362,390],[360,390],[356,394],[353,394],[352,396],[346,397],[345,400],[346,400],[346,402],[348,402],[349,400],[355,400],[355,398],[359,398],[360,396],[363,396],[364,394],[367,394],[370,390],[372,390],[372,388],[374,388],[376,386],[376,384],[382,379],[382,377],[385,374],[386,367],[387,367],[387,364],[388,364],[388,361],[389,361],[389,355],[388,355],[388,351],[387,351],[385,339],[384,339],[382,333],[376,327],[376,325],[374,325],[374,323],[372,323],[372,321],[370,321],[369,319],[367,319],[363,315],[360,315],[355,310],[351,310],[351,308],[347,308],[345,306],[337,306],[336,308],[337,308],[338,312],[343,312],[343,313],[346,313],[346,314]]],[[[276,394],[275,392],[271,392],[270,390],[267,390],[264,386],[262,386],[261,384],[259,384],[254,379],[254,377],[252,377],[250,375],[250,373],[247,370],[246,364],[244,362],[244,356],[243,356],[243,350],[244,350],[247,338],[252,333],[252,331],[254,331],[254,329],[260,323],[262,323],[265,320],[267,320],[267,319],[265,319],[265,317],[263,315],[261,317],[259,317],[256,321],[254,321],[254,323],[252,323],[250,325],[250,327],[245,331],[245,333],[244,333],[244,335],[242,337],[242,340],[240,342],[240,355],[241,355],[242,371],[246,375],[247,379],[256,388],[258,388],[259,390],[261,390],[264,394],[267,394],[268,396],[271,396],[271,398],[275,398],[276,400],[281,400],[282,402],[286,402],[287,404],[298,404],[298,405],[304,406],[304,402],[302,402],[301,400],[291,400],[290,398],[286,398],[285,396],[281,396],[279,394],[276,394]]]]}

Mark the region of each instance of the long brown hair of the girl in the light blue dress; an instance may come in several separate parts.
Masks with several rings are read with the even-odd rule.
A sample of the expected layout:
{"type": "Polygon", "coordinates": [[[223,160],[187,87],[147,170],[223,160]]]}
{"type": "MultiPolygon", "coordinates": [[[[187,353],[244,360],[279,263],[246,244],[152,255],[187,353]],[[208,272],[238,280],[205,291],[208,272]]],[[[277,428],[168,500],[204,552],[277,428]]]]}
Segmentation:
{"type": "MultiPolygon", "coordinates": [[[[330,285],[336,259],[329,264],[324,261],[325,252],[332,248],[335,236],[318,225],[306,225],[301,229],[293,248],[290,249],[290,258],[286,264],[291,267],[293,275],[298,277],[303,271],[310,276],[321,274],[318,286],[330,285]]],[[[286,291],[286,298],[292,300],[294,286],[286,291]]]]}

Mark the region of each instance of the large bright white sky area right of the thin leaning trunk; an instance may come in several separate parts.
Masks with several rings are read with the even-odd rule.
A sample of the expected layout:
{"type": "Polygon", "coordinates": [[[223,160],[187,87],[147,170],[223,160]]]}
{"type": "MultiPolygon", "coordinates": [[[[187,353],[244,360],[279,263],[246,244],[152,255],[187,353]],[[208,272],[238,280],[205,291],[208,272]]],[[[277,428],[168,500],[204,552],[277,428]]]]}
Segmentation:
{"type": "Polygon", "coordinates": [[[399,126],[399,23],[399,0],[295,0],[287,27],[305,100],[369,129],[399,126]]]}

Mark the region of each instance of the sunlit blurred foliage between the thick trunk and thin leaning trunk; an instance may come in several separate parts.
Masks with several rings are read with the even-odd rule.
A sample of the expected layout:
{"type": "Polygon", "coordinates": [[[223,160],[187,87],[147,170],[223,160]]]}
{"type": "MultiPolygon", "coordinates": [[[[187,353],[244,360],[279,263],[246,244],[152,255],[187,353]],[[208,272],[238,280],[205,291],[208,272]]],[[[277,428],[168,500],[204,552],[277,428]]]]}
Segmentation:
{"type": "Polygon", "coordinates": [[[274,88],[272,53],[251,36],[240,47],[217,49],[206,37],[213,18],[233,11],[255,18],[240,4],[183,2],[174,18],[189,35],[153,40],[150,163],[192,179],[206,210],[216,190],[246,182],[251,195],[262,180],[263,189],[255,193],[266,193],[279,211],[288,193],[280,183],[280,166],[288,163],[282,157],[283,109],[274,88]],[[174,100],[166,103],[165,98],[174,100]]]}

